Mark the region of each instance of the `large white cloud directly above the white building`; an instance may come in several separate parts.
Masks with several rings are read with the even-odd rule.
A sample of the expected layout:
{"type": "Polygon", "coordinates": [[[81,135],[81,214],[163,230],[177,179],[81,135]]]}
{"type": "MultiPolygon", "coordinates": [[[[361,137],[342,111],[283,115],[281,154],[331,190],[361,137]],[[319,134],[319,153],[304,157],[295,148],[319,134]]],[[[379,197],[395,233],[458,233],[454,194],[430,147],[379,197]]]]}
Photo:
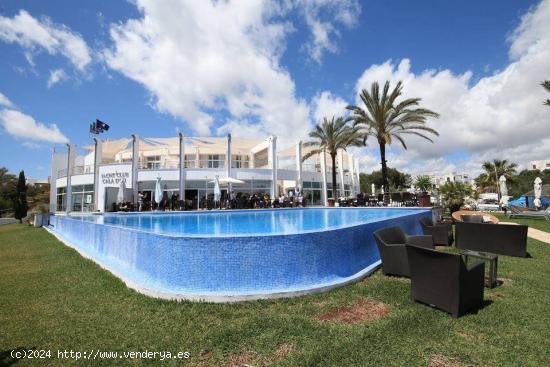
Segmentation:
{"type": "Polygon", "coordinates": [[[142,84],[159,111],[181,118],[197,134],[294,140],[307,134],[311,121],[307,102],[296,96],[280,64],[294,29],[283,16],[303,11],[315,18],[327,6],[343,9],[334,22],[353,24],[355,14],[330,4],[181,0],[166,6],[137,0],[141,18],[111,26],[114,45],[105,60],[142,84]]]}

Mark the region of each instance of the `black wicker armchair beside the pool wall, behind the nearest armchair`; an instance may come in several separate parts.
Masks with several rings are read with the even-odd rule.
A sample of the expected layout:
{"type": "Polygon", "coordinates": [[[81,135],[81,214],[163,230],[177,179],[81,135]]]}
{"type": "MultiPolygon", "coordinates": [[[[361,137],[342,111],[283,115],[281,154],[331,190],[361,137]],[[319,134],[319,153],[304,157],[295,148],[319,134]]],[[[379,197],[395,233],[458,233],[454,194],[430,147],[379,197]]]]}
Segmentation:
{"type": "Polygon", "coordinates": [[[408,236],[400,227],[388,227],[374,232],[385,275],[410,276],[406,245],[434,248],[432,236],[408,236]]]}

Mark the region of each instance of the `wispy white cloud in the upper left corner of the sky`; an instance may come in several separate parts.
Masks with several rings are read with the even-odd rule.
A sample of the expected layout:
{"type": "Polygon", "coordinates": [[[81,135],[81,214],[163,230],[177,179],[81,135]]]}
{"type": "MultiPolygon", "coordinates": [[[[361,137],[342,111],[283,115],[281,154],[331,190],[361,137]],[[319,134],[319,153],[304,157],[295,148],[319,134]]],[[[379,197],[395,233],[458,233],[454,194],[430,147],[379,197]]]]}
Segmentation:
{"type": "Polygon", "coordinates": [[[51,55],[65,56],[80,71],[92,61],[82,36],[47,17],[36,19],[25,10],[19,11],[13,18],[0,16],[0,39],[25,48],[25,57],[31,65],[32,52],[37,48],[45,49],[51,55]]]}

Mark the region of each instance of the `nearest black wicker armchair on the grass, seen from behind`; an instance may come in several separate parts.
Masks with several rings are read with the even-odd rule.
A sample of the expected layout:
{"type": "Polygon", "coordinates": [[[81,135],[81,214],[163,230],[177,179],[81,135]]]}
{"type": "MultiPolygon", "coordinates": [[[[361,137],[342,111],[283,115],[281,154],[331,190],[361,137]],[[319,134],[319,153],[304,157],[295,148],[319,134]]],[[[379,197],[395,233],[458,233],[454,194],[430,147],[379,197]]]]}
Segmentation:
{"type": "Polygon", "coordinates": [[[485,263],[467,266],[462,256],[407,246],[414,301],[433,305],[457,318],[483,305],[485,263]]]}

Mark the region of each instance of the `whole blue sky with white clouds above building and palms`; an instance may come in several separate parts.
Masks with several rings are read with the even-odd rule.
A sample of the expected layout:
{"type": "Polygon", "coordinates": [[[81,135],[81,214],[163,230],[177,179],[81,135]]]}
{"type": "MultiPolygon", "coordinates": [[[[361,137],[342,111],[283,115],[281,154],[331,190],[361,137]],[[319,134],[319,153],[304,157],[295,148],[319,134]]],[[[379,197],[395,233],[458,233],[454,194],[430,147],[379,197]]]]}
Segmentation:
{"type": "MultiPolygon", "coordinates": [[[[527,136],[518,140],[511,133],[518,124],[539,128],[545,121],[547,111],[533,103],[544,97],[534,81],[549,79],[550,67],[533,61],[545,51],[526,43],[542,48],[539,44],[550,39],[548,27],[537,21],[550,8],[548,1],[317,0],[276,10],[269,1],[248,8],[237,2],[227,9],[193,9],[196,2],[186,1],[171,2],[173,9],[137,3],[0,3],[0,93],[11,102],[0,108],[17,111],[0,115],[0,166],[48,176],[51,149],[63,149],[64,138],[88,144],[88,125],[95,118],[111,125],[106,138],[134,132],[172,136],[180,129],[190,135],[275,133],[290,142],[305,136],[319,116],[343,113],[342,106],[354,103],[357,91],[373,78],[405,79],[411,86],[406,93],[442,113],[433,123],[441,141],[414,143],[408,152],[392,148],[392,166],[413,173],[475,172],[481,158],[502,153],[499,142],[520,164],[550,158],[545,150],[525,149],[527,136]],[[18,18],[21,11],[25,19],[18,18]],[[205,32],[201,22],[207,18],[182,17],[204,12],[223,24],[205,32]],[[258,19],[254,14],[260,12],[258,19]],[[243,20],[239,14],[246,14],[243,20]],[[40,38],[44,34],[31,29],[30,20],[55,42],[40,38]],[[323,32],[325,38],[315,38],[323,32]],[[63,46],[67,34],[83,42],[84,55],[63,46]],[[143,45],[124,35],[151,38],[143,45]],[[518,70],[535,74],[519,86],[529,91],[529,103],[504,115],[500,106],[510,106],[506,90],[518,88],[504,84],[526,79],[514,74],[518,70]],[[54,71],[61,73],[59,80],[52,79],[54,71]],[[453,99],[468,113],[447,103],[453,99]],[[514,120],[518,115],[526,116],[525,123],[514,120]],[[456,133],[480,125],[479,134],[456,133]],[[419,160],[427,163],[418,165],[419,160]]],[[[365,170],[377,167],[375,144],[361,154],[365,170]]]]}

